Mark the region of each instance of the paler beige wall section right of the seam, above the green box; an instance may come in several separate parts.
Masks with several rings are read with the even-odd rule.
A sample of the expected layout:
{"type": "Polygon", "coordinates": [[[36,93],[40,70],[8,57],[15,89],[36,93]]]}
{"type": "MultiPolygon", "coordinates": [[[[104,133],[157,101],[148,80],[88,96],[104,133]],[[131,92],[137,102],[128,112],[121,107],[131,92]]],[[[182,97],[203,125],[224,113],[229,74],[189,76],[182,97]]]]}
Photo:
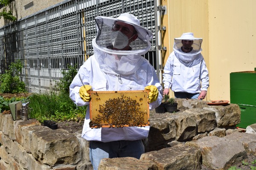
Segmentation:
{"type": "Polygon", "coordinates": [[[230,73],[256,68],[256,1],[209,0],[211,99],[230,99],[230,73]]]}

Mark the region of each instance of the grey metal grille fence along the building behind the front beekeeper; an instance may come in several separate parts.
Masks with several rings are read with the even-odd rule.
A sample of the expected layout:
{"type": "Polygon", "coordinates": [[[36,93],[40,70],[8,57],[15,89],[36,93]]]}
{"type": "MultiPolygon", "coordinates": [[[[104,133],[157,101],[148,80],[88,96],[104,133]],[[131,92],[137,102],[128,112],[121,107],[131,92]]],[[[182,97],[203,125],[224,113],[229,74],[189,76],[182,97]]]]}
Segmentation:
{"type": "Polygon", "coordinates": [[[11,62],[23,63],[21,79],[31,93],[55,89],[62,70],[80,68],[93,54],[96,16],[134,14],[141,26],[151,30],[151,49],[144,55],[159,72],[157,52],[156,0],[66,0],[52,8],[0,28],[0,71],[11,62]]]}

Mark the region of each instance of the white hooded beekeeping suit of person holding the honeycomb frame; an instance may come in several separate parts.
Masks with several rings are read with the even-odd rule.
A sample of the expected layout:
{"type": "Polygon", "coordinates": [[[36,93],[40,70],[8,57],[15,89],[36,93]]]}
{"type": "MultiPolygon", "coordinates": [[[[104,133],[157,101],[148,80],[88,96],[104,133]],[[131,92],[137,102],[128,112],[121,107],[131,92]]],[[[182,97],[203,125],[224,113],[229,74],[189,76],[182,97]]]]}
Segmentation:
{"type": "MultiPolygon", "coordinates": [[[[91,85],[93,91],[134,91],[144,90],[148,85],[157,87],[158,98],[150,103],[150,109],[160,105],[162,87],[154,68],[141,55],[151,48],[152,33],[140,26],[140,21],[131,14],[121,14],[117,18],[96,17],[97,36],[92,45],[94,54],[81,66],[78,74],[70,85],[70,98],[78,106],[88,105],[79,96],[82,83],[91,85]],[[116,50],[127,45],[128,38],[118,31],[113,31],[113,25],[122,21],[128,23],[137,31],[137,39],[129,45],[129,50],[116,50]],[[115,50],[113,49],[115,48],[115,50]]],[[[89,107],[89,105],[88,105],[89,107]]],[[[89,141],[111,142],[118,140],[138,140],[148,136],[149,126],[123,128],[90,128],[89,108],[87,109],[82,137],[89,141]]]]}

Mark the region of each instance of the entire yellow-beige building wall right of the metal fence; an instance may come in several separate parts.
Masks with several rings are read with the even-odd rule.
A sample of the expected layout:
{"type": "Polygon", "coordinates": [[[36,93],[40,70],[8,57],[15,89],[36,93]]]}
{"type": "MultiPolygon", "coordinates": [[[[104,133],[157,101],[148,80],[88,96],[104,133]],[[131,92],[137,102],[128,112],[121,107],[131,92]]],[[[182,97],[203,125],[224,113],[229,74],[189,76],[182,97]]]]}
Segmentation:
{"type": "MultiPolygon", "coordinates": [[[[256,68],[255,0],[161,0],[167,6],[167,54],[175,37],[193,32],[203,38],[202,54],[209,71],[205,100],[230,101],[230,73],[256,68]]],[[[166,62],[165,57],[164,62],[166,62]]]]}

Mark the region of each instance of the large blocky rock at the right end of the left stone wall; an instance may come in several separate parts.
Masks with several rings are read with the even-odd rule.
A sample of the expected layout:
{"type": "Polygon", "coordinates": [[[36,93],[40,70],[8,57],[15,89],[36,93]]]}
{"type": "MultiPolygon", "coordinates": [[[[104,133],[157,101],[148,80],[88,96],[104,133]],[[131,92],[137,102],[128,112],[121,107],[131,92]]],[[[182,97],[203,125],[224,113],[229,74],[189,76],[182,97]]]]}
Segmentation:
{"type": "Polygon", "coordinates": [[[64,129],[33,132],[31,141],[32,155],[42,164],[77,163],[81,157],[78,139],[64,129]]]}

